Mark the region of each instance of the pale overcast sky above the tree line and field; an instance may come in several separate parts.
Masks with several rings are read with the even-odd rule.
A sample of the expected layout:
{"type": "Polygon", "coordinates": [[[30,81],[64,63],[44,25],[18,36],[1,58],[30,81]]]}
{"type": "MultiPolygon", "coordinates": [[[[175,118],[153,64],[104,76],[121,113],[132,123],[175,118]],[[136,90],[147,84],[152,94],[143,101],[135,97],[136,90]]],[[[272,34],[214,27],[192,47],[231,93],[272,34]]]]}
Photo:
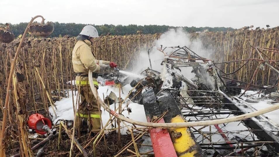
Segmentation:
{"type": "Polygon", "coordinates": [[[279,26],[279,0],[0,0],[0,23],[46,21],[195,27],[279,26]]]}

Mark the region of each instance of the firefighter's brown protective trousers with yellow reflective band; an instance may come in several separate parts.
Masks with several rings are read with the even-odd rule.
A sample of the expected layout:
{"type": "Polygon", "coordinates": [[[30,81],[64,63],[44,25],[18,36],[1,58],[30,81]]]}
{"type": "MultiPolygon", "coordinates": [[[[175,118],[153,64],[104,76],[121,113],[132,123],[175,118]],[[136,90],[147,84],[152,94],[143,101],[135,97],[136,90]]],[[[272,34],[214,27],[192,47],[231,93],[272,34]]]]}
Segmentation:
{"type": "Polygon", "coordinates": [[[81,132],[86,132],[87,129],[92,129],[92,132],[97,133],[101,128],[100,116],[102,114],[102,111],[99,112],[97,99],[93,95],[89,84],[86,84],[86,86],[84,86],[84,84],[83,86],[80,86],[79,94],[81,103],[77,111],[75,127],[81,132]]]}

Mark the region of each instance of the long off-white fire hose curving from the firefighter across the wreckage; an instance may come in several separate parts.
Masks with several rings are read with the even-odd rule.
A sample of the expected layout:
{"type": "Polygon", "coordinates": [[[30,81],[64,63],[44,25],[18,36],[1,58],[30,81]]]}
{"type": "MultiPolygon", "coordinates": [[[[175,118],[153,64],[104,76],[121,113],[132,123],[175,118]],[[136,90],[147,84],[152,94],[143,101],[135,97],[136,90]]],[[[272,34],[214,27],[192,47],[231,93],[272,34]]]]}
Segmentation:
{"type": "MultiPolygon", "coordinates": [[[[215,124],[224,124],[224,123],[229,123],[229,122],[236,122],[236,121],[240,121],[240,120],[244,120],[244,119],[248,119],[248,118],[252,118],[264,113],[268,113],[271,111],[275,111],[279,108],[279,103],[276,103],[275,105],[271,106],[271,107],[267,107],[258,111],[254,111],[254,112],[250,112],[250,113],[246,113],[243,115],[238,115],[238,116],[234,116],[234,117],[230,117],[230,118],[223,118],[223,119],[216,119],[216,120],[205,120],[205,121],[199,121],[199,122],[183,122],[183,123],[148,123],[148,122],[139,122],[136,120],[132,120],[129,118],[124,117],[123,115],[119,115],[118,113],[116,113],[115,111],[113,111],[112,109],[110,109],[99,97],[99,95],[97,95],[96,93],[96,89],[95,86],[93,84],[93,77],[92,77],[92,71],[89,70],[88,73],[88,77],[89,77],[89,84],[90,84],[90,88],[93,92],[93,95],[97,98],[98,96],[98,101],[100,103],[100,105],[105,108],[106,111],[108,111],[110,114],[114,115],[115,117],[131,123],[131,124],[135,124],[135,125],[140,125],[140,126],[145,126],[145,127],[195,127],[195,126],[208,126],[208,125],[215,125],[215,124]]],[[[230,99],[230,98],[227,98],[230,99]]]]}

